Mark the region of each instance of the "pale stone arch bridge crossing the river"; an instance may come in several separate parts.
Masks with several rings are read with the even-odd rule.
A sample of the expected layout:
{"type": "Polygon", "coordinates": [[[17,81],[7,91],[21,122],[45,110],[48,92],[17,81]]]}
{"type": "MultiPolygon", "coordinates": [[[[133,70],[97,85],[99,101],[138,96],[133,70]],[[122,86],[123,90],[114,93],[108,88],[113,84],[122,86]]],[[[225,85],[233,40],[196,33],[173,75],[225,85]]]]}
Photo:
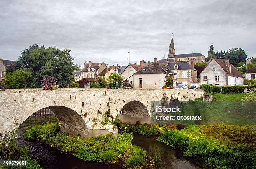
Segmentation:
{"type": "Polygon", "coordinates": [[[150,123],[151,101],[194,100],[203,96],[202,90],[156,89],[9,89],[0,91],[1,139],[18,128],[29,116],[42,108],[49,108],[57,116],[61,131],[85,138],[105,135],[117,136],[113,124],[102,125],[105,117],[134,124],[150,123]]]}

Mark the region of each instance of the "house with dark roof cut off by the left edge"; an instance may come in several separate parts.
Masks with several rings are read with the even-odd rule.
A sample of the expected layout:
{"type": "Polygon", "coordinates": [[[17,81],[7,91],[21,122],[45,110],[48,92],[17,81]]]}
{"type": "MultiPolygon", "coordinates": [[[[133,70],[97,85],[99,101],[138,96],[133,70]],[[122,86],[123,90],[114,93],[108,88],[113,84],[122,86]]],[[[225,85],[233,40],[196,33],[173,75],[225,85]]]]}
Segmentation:
{"type": "Polygon", "coordinates": [[[15,69],[15,61],[0,59],[0,80],[6,78],[6,73],[12,72],[15,69]]]}

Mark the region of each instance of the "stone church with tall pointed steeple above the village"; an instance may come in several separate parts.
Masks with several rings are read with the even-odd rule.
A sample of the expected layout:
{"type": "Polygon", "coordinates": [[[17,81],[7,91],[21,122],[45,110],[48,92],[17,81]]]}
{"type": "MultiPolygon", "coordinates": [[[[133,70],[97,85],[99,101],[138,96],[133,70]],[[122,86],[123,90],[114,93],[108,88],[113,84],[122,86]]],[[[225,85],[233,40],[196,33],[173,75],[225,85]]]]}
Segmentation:
{"type": "Polygon", "coordinates": [[[193,57],[194,63],[202,63],[205,61],[205,56],[201,53],[187,53],[187,54],[176,54],[173,38],[171,40],[171,44],[169,46],[169,54],[167,59],[159,60],[160,63],[165,63],[168,61],[169,63],[174,63],[175,61],[178,62],[189,62],[191,63],[191,58],[193,57]]]}

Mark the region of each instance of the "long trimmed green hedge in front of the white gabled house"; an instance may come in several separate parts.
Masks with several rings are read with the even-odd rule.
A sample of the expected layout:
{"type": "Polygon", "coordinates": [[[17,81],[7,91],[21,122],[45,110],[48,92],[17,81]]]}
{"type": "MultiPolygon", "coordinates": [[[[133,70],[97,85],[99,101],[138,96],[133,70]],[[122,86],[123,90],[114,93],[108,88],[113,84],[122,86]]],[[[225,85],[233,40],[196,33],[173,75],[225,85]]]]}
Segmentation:
{"type": "Polygon", "coordinates": [[[207,84],[202,84],[201,89],[204,90],[207,93],[210,92],[216,92],[216,93],[243,93],[244,89],[247,88],[247,90],[251,90],[253,87],[256,86],[212,86],[212,85],[207,85],[207,84]]]}

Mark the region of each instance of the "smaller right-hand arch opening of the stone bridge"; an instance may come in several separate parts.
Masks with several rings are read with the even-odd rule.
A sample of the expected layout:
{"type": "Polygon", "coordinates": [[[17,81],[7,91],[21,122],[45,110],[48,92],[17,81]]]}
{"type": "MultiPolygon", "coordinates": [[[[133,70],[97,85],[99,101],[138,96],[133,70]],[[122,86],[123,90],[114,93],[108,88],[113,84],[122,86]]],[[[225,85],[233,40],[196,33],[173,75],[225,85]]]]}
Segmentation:
{"type": "Polygon", "coordinates": [[[118,119],[124,123],[135,124],[136,121],[143,123],[151,123],[150,114],[146,106],[140,101],[130,101],[126,103],[118,113],[118,119]]]}

